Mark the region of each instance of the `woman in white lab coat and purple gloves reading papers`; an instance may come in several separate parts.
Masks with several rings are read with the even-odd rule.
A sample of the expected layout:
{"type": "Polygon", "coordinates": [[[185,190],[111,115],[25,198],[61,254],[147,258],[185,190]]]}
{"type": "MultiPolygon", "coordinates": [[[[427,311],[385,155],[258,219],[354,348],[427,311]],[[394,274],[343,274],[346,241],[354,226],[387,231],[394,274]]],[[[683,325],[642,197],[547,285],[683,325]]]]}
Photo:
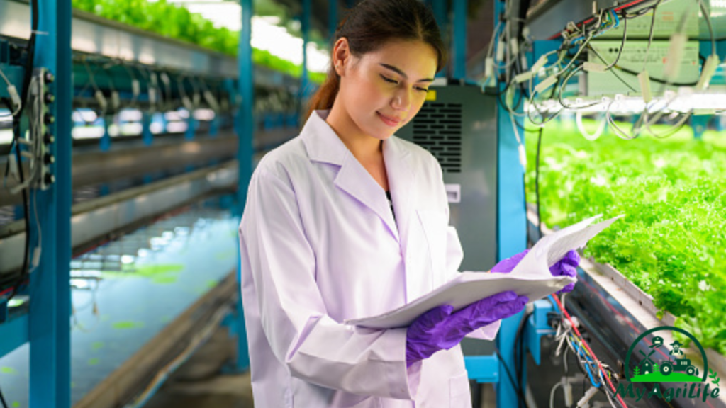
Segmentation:
{"type": "Polygon", "coordinates": [[[462,261],[439,163],[393,136],[445,58],[420,1],[360,2],[301,134],[258,164],[240,224],[255,407],[471,407],[458,344],[494,338],[525,297],[441,306],[407,329],[343,324],[430,292],[462,261]]]}

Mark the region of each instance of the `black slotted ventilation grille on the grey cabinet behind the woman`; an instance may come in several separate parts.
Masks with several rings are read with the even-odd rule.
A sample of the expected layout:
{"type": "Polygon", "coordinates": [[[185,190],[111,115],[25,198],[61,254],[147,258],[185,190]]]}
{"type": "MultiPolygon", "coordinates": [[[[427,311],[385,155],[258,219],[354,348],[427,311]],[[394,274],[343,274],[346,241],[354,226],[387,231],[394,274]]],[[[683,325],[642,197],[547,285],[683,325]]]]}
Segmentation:
{"type": "Polygon", "coordinates": [[[461,104],[425,103],[413,119],[413,142],[439,160],[444,173],[461,173],[461,104]]]}

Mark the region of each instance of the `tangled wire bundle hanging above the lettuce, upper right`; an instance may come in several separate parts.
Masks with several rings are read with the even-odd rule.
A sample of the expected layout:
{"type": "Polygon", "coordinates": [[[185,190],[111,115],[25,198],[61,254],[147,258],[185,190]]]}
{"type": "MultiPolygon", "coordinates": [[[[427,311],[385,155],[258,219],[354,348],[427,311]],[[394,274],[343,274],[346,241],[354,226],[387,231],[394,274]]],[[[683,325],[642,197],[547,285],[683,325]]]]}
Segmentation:
{"type": "MultiPolygon", "coordinates": [[[[489,44],[489,49],[486,54],[486,80],[484,81],[484,86],[491,83],[494,78],[499,78],[500,81],[505,83],[504,89],[498,92],[497,96],[499,96],[502,106],[510,113],[510,119],[513,122],[515,137],[518,143],[521,144],[521,139],[517,128],[524,129],[524,127],[518,123],[515,116],[524,116],[529,118],[529,121],[531,121],[531,123],[535,126],[542,127],[546,123],[557,118],[558,115],[560,115],[560,113],[562,113],[565,109],[583,110],[600,104],[605,106],[605,115],[600,123],[600,128],[604,128],[605,123],[608,123],[612,126],[614,133],[622,139],[635,139],[642,133],[643,130],[647,130],[648,133],[653,134],[653,136],[661,138],[671,136],[680,130],[680,128],[682,128],[682,126],[684,126],[688,121],[688,118],[690,118],[693,114],[693,110],[683,113],[680,120],[678,120],[669,131],[656,132],[653,130],[652,126],[660,121],[664,115],[677,115],[677,113],[671,113],[668,109],[677,97],[666,96],[665,103],[653,101],[650,94],[650,82],[652,81],[654,83],[661,84],[660,94],[664,94],[664,91],[668,86],[696,86],[696,89],[703,90],[708,86],[710,78],[713,76],[713,73],[719,64],[719,60],[716,54],[714,33],[713,28],[711,27],[709,12],[703,5],[703,0],[694,0],[694,6],[698,4],[701,8],[701,12],[706,19],[706,23],[709,27],[709,33],[711,35],[711,56],[706,59],[706,63],[703,65],[701,78],[697,83],[677,83],[674,81],[674,75],[672,75],[673,70],[677,70],[675,67],[680,64],[680,61],[682,60],[682,49],[685,47],[687,40],[682,31],[685,27],[685,21],[688,15],[690,15],[690,12],[693,10],[689,10],[689,12],[682,15],[677,33],[674,33],[672,36],[671,51],[669,52],[668,58],[670,62],[666,65],[666,78],[650,78],[648,76],[645,68],[648,61],[648,53],[650,52],[650,45],[653,41],[653,27],[656,22],[656,9],[658,5],[661,4],[661,1],[662,0],[656,0],[650,6],[643,7],[634,13],[629,13],[625,8],[609,10],[603,9],[597,13],[597,15],[594,15],[592,18],[586,20],[580,25],[568,23],[565,30],[560,33],[563,37],[563,43],[560,48],[542,55],[542,57],[540,57],[529,70],[526,69],[526,57],[524,53],[529,49],[532,41],[526,38],[526,28],[519,30],[519,26],[515,25],[517,20],[521,19],[512,16],[511,13],[508,12],[508,10],[512,7],[512,2],[507,1],[505,5],[507,12],[505,12],[505,15],[500,18],[499,23],[497,23],[496,28],[494,28],[494,35],[492,36],[492,41],[489,44]],[[641,17],[648,12],[652,12],[652,17],[650,18],[648,47],[646,49],[643,70],[641,70],[640,73],[637,73],[633,70],[621,67],[618,65],[618,62],[627,41],[627,20],[641,17]],[[515,29],[511,28],[512,25],[515,25],[515,29]],[[607,30],[618,28],[620,25],[623,26],[621,45],[614,60],[607,61],[599,52],[597,52],[597,49],[592,46],[591,40],[600,36],[607,30]],[[592,52],[597,60],[600,60],[602,63],[588,61],[580,62],[580,57],[585,50],[592,52]],[[496,60],[494,58],[495,55],[496,60]],[[556,60],[554,62],[550,62],[550,57],[553,55],[556,56],[556,60]],[[503,75],[500,75],[501,70],[504,70],[503,75]],[[592,73],[611,72],[613,73],[613,76],[627,86],[629,91],[632,91],[633,93],[638,93],[640,91],[640,93],[643,94],[645,109],[640,114],[640,118],[633,125],[630,132],[620,128],[613,120],[611,110],[613,107],[618,106],[619,98],[603,98],[592,102],[586,102],[584,104],[579,103],[577,105],[571,105],[565,101],[563,97],[565,87],[577,73],[583,71],[592,73]],[[635,89],[629,82],[624,81],[619,73],[637,76],[641,89],[635,89]],[[535,78],[543,79],[535,85],[535,78]],[[529,82],[529,86],[523,86],[524,82],[529,82]],[[555,105],[559,105],[558,109],[555,107],[547,108],[542,105],[542,102],[539,102],[536,99],[538,95],[543,94],[544,91],[550,88],[552,88],[552,92],[549,97],[545,98],[545,100],[548,102],[554,102],[555,105]],[[517,96],[518,99],[515,105],[513,105],[514,97],[512,92],[516,89],[519,89],[520,93],[517,96]],[[502,95],[505,96],[503,99],[502,95]],[[522,95],[525,95],[526,101],[528,102],[526,114],[517,112],[518,107],[521,105],[522,95]]],[[[552,105],[552,103],[550,103],[550,105],[552,105]]],[[[582,113],[579,113],[578,117],[580,118],[579,123],[582,123],[582,113]]],[[[597,136],[602,133],[602,131],[598,131],[596,134],[590,135],[587,134],[587,131],[584,131],[584,126],[579,125],[578,127],[583,136],[587,139],[597,139],[597,136]]],[[[524,165],[525,161],[521,160],[521,162],[524,165]]]]}

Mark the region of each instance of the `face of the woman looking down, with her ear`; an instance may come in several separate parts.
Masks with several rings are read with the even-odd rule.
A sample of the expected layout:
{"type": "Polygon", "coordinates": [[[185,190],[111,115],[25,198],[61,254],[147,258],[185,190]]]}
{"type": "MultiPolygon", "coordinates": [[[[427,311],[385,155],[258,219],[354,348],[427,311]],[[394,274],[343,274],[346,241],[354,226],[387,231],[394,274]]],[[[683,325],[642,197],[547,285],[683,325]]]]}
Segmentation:
{"type": "Polygon", "coordinates": [[[389,41],[356,57],[348,40],[333,49],[340,89],[335,104],[363,134],[385,140],[418,113],[436,74],[436,50],[423,41],[389,41]]]}

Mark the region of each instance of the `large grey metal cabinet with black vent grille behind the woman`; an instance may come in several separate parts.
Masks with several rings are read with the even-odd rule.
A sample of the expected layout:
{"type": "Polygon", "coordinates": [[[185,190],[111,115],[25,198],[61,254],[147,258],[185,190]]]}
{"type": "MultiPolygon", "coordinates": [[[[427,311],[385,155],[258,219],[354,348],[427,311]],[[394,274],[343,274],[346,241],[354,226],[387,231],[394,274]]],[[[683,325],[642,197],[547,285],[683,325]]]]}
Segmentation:
{"type": "Polygon", "coordinates": [[[439,160],[450,224],[464,250],[460,270],[487,271],[497,260],[496,98],[478,86],[431,86],[420,112],[396,132],[439,160]]]}

